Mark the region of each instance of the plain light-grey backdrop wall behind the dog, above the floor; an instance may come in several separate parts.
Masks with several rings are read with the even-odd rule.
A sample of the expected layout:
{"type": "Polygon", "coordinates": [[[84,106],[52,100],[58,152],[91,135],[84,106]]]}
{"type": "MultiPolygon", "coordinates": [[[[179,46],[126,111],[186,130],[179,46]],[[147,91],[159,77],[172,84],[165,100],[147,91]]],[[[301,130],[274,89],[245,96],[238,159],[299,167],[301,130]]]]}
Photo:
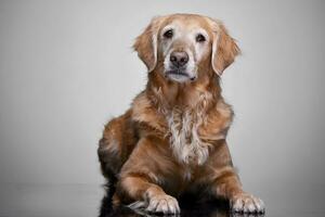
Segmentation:
{"type": "Polygon", "coordinates": [[[186,12],[224,21],[243,50],[222,86],[244,186],[263,197],[269,187],[325,184],[324,10],[324,1],[0,1],[0,182],[102,183],[103,126],[146,82],[132,42],[151,17],[186,12]]]}

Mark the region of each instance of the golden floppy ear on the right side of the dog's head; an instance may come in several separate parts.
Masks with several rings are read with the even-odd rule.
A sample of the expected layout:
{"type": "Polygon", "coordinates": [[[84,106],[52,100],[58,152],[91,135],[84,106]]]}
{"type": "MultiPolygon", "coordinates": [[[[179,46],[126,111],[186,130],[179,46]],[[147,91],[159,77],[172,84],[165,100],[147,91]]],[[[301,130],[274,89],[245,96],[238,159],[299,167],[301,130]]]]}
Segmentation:
{"type": "Polygon", "coordinates": [[[221,76],[223,71],[235,61],[240,49],[221,22],[214,20],[210,22],[213,33],[211,64],[213,71],[221,76]]]}

